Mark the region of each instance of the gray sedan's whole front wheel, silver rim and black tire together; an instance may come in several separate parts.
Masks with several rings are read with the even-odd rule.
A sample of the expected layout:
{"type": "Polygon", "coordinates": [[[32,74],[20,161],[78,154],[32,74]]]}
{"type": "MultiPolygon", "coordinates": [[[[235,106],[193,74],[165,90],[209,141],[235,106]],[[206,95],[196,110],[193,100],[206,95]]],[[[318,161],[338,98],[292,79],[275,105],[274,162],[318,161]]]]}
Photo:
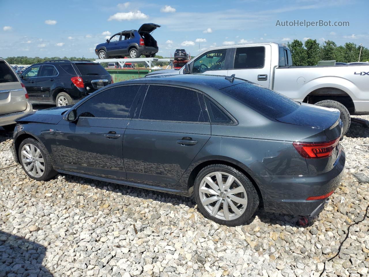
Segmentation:
{"type": "Polygon", "coordinates": [[[24,172],[32,179],[45,181],[57,174],[45,146],[33,138],[21,142],[18,155],[24,172]]]}

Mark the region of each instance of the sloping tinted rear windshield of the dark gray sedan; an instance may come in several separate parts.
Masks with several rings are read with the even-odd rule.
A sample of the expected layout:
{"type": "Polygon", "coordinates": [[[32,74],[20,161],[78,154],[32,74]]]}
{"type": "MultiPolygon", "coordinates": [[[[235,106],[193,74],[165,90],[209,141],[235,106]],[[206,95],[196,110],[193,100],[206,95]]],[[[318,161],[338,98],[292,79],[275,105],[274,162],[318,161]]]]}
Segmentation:
{"type": "Polygon", "coordinates": [[[257,112],[276,119],[294,112],[300,103],[261,85],[244,82],[222,91],[257,112]]]}

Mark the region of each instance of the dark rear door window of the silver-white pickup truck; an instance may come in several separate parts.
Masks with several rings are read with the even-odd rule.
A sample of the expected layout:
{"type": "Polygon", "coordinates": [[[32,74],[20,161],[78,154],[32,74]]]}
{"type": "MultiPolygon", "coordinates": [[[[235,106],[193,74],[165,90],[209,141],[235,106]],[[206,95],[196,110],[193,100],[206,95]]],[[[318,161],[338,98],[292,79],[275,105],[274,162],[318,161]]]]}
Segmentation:
{"type": "Polygon", "coordinates": [[[233,68],[263,68],[264,61],[265,47],[240,47],[236,49],[233,68]]]}

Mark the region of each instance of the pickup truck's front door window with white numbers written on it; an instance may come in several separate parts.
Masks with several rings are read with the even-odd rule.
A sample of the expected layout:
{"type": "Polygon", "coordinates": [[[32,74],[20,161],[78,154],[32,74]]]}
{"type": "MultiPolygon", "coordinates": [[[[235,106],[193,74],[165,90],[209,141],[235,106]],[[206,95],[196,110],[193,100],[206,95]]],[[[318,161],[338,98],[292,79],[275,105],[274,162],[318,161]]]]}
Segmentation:
{"type": "Polygon", "coordinates": [[[206,52],[193,63],[192,73],[202,73],[209,70],[224,69],[227,49],[206,52]]]}

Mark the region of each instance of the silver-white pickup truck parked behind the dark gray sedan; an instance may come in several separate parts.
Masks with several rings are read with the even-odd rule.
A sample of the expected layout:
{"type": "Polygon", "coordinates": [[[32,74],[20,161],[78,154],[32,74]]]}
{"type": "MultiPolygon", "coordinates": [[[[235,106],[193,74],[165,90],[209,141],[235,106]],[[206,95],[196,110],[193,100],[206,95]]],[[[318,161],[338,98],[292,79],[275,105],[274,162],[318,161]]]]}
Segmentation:
{"type": "Polygon", "coordinates": [[[350,114],[369,114],[369,64],[292,66],[291,51],[280,43],[214,47],[201,52],[181,69],[146,76],[201,73],[246,79],[294,100],[334,107],[341,112],[344,133],[350,114]]]}

